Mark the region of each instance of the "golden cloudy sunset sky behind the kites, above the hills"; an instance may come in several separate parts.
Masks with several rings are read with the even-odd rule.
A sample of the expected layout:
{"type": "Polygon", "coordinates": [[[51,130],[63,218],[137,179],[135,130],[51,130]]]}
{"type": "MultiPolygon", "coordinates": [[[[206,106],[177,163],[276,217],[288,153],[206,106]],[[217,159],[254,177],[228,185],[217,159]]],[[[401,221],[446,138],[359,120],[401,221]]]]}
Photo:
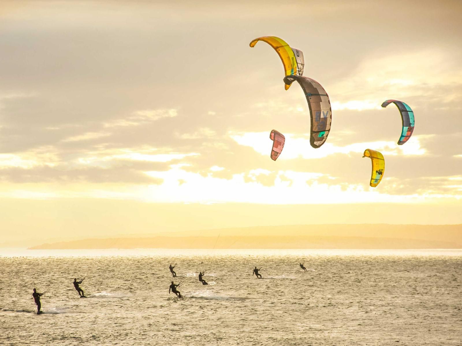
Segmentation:
{"type": "Polygon", "coordinates": [[[3,239],[462,223],[460,1],[0,1],[3,239]],[[431,6],[427,6],[431,5],[431,6]],[[329,94],[319,149],[298,84],[329,94]],[[397,145],[401,117],[415,113],[397,145]],[[269,132],[286,136],[277,161],[269,132]],[[365,149],[385,157],[371,188],[365,149]]]}

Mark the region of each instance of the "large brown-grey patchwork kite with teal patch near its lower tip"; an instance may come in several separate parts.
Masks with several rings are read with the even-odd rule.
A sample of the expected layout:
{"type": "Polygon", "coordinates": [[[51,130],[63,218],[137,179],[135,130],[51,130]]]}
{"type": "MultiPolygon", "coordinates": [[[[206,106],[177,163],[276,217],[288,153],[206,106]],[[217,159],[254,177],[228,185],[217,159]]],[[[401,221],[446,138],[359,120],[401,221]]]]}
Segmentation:
{"type": "Polygon", "coordinates": [[[284,83],[292,84],[296,80],[303,89],[308,101],[311,118],[310,144],[319,148],[327,139],[332,122],[332,109],[326,90],[314,79],[302,76],[286,76],[284,83]]]}

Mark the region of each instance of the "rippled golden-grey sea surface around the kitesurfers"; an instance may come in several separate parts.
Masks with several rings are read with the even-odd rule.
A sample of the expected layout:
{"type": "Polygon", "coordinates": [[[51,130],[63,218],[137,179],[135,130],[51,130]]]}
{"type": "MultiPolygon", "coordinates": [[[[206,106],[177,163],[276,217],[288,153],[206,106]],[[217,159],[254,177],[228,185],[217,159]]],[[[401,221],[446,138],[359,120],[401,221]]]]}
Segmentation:
{"type": "Polygon", "coordinates": [[[0,249],[0,345],[461,340],[462,250],[0,249]],[[170,263],[182,299],[169,294],[170,263]],[[72,282],[84,276],[79,298],[72,282]],[[47,291],[41,315],[34,287],[47,291]]]}

